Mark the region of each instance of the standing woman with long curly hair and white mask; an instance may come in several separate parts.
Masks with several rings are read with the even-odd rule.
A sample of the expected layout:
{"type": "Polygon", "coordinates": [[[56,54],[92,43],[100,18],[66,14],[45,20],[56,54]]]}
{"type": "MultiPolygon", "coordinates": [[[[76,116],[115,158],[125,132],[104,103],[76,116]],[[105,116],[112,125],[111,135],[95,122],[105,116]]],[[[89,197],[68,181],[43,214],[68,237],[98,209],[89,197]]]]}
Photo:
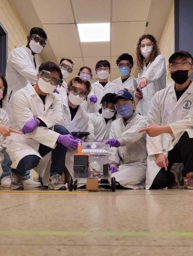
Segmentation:
{"type": "Polygon", "coordinates": [[[137,111],[147,116],[154,94],[166,85],[165,58],[159,52],[156,39],[148,34],[138,40],[136,57],[139,71],[135,93],[139,99],[137,111]]]}

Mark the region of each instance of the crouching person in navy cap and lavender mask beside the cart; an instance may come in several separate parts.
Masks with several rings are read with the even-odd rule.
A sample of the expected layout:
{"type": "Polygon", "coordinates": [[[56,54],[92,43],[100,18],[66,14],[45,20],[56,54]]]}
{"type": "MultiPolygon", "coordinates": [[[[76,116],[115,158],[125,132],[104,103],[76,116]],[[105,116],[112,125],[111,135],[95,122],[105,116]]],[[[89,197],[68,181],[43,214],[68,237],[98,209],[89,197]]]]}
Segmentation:
{"type": "Polygon", "coordinates": [[[143,189],[146,180],[147,152],[146,134],[138,133],[146,127],[146,117],[133,110],[133,96],[120,90],[115,97],[117,112],[122,116],[112,122],[109,140],[110,167],[112,177],[119,188],[143,189]]]}

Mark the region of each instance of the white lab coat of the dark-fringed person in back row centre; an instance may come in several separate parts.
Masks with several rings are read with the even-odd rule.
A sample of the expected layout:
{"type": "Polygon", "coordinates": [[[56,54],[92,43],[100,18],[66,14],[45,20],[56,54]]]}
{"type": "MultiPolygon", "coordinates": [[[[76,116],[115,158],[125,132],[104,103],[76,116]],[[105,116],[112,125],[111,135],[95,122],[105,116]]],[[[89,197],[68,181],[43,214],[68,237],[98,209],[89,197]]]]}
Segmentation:
{"type": "Polygon", "coordinates": [[[89,99],[84,101],[83,107],[87,113],[97,113],[101,108],[100,101],[106,93],[118,93],[119,86],[110,81],[103,87],[99,83],[99,80],[92,84],[92,91],[90,92],[90,96],[96,95],[97,102],[93,105],[90,104],[89,99]]]}

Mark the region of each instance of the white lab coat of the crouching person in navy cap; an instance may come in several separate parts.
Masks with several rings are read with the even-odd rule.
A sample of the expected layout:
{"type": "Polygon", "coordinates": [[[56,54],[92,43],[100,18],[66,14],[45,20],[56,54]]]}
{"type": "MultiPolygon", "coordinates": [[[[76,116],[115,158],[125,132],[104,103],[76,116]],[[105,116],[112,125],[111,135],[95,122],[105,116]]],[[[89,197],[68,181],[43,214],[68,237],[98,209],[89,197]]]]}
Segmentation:
{"type": "Polygon", "coordinates": [[[146,117],[134,112],[125,126],[122,117],[112,122],[109,138],[116,138],[120,147],[110,148],[110,163],[116,163],[119,171],[112,173],[122,186],[143,189],[146,179],[146,134],[138,133],[146,127],[146,117]]]}

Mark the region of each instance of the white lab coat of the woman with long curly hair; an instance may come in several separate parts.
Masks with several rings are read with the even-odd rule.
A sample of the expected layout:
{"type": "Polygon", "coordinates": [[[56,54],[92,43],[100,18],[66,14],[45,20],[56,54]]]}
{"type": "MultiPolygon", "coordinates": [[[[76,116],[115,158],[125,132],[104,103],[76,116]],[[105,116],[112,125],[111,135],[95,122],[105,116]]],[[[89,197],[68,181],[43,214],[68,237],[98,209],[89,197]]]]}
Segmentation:
{"type": "Polygon", "coordinates": [[[142,78],[147,78],[147,86],[142,89],[143,98],[138,101],[137,111],[147,116],[154,94],[164,89],[166,85],[165,58],[162,54],[159,54],[147,67],[143,66],[143,70],[138,73],[137,83],[142,78]]]}

